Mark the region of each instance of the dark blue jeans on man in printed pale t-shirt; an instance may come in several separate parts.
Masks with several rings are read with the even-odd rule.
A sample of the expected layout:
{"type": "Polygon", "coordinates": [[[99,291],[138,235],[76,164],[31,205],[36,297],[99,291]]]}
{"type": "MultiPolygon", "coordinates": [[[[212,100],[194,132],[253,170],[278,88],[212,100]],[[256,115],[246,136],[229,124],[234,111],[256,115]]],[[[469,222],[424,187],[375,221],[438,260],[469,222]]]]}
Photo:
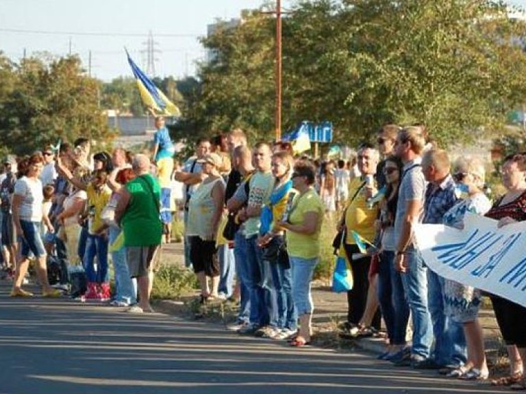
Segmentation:
{"type": "Polygon", "coordinates": [[[258,326],[277,326],[277,301],[273,289],[270,263],[264,261],[258,235],[247,238],[249,263],[250,322],[258,326]]]}

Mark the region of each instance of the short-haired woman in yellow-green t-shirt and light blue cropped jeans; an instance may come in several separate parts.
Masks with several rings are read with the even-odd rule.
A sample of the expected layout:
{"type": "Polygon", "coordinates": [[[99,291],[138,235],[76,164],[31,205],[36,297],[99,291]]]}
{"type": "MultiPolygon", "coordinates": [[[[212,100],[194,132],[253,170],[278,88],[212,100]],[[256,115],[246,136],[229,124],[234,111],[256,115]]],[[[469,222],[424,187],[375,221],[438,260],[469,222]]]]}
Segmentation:
{"type": "Polygon", "coordinates": [[[292,185],[298,191],[292,202],[288,220],[277,225],[287,231],[287,251],[292,267],[292,299],[299,316],[299,332],[290,345],[310,343],[314,304],[310,283],[314,267],[320,260],[320,233],[323,204],[314,190],[316,170],[311,163],[299,161],[292,173],[292,185]]]}

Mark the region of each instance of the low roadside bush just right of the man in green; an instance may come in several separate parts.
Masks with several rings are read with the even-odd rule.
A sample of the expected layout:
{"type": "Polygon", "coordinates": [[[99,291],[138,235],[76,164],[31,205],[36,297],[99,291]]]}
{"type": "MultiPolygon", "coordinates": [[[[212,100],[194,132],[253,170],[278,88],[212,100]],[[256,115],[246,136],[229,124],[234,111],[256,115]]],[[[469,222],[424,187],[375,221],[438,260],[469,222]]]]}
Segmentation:
{"type": "Polygon", "coordinates": [[[195,274],[179,265],[161,265],[153,279],[151,298],[175,300],[197,289],[195,274]]]}

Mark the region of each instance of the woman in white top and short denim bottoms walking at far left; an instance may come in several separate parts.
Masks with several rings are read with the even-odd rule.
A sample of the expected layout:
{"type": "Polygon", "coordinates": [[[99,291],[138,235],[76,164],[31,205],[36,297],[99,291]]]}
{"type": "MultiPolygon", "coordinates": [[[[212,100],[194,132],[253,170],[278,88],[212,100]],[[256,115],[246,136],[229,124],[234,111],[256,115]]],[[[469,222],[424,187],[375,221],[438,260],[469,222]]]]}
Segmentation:
{"type": "Polygon", "coordinates": [[[47,215],[42,212],[42,182],[38,178],[44,159],[40,154],[29,157],[27,161],[18,164],[20,179],[14,184],[12,202],[13,222],[16,235],[21,239],[21,260],[16,264],[12,297],[32,297],[33,294],[22,289],[22,282],[29,266],[29,252],[36,257],[36,274],[42,286],[44,297],[58,297],[60,291],[53,289],[47,280],[46,251],[40,236],[40,226],[43,221],[47,230],[53,233],[54,228],[47,215]]]}

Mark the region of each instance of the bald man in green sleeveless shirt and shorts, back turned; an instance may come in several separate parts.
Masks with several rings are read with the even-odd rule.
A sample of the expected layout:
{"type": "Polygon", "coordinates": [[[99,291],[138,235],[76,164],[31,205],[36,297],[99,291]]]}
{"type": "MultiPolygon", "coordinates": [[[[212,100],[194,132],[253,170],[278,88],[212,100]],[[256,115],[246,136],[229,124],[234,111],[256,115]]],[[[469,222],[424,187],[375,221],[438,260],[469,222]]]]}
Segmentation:
{"type": "Polygon", "coordinates": [[[136,178],[121,189],[115,220],[124,231],[129,275],[137,278],[138,304],[128,311],[151,313],[153,262],[162,238],[162,222],[159,218],[161,187],[150,174],[150,160],[146,155],[135,155],[132,168],[136,178]]]}

